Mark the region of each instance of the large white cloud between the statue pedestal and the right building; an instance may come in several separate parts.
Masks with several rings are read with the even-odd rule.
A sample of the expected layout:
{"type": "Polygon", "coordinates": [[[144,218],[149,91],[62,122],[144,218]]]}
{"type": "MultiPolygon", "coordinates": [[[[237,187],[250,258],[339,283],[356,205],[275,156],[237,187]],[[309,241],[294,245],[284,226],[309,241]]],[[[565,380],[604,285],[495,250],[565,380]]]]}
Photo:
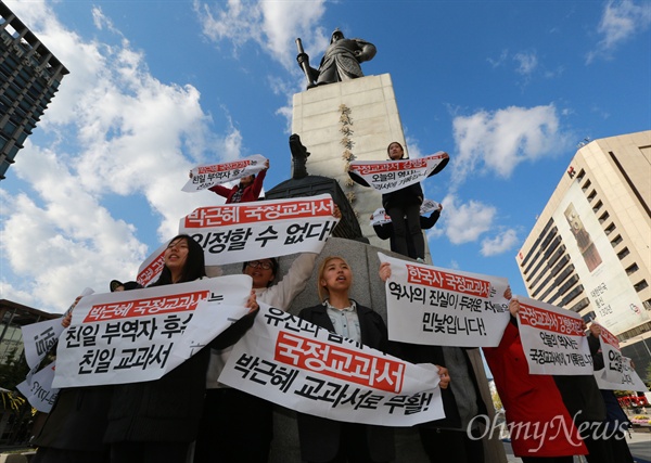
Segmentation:
{"type": "Polygon", "coordinates": [[[454,189],[476,170],[508,178],[520,163],[559,155],[569,147],[553,104],[480,111],[455,117],[452,128],[457,145],[451,160],[454,189]]]}

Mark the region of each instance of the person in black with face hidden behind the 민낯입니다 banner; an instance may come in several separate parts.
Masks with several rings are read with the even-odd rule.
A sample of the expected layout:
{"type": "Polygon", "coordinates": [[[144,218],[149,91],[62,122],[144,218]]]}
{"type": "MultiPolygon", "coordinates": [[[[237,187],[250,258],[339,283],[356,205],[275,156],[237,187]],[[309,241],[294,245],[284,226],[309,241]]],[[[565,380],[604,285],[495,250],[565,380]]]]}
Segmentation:
{"type": "MultiPolygon", "coordinates": [[[[385,282],[390,278],[391,263],[381,263],[380,279],[385,282]]],[[[449,387],[441,391],[445,417],[418,426],[430,462],[483,463],[481,420],[473,419],[486,415],[488,411],[465,349],[400,343],[399,351],[400,357],[411,363],[446,366],[454,378],[449,387]]]]}

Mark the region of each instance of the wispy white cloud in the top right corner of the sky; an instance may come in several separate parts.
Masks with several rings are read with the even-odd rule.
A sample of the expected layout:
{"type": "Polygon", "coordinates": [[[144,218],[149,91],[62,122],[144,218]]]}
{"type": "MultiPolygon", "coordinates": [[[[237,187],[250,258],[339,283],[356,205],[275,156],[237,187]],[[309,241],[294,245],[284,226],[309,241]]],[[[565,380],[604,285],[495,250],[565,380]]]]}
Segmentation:
{"type": "Polygon", "coordinates": [[[601,40],[597,48],[587,54],[587,63],[596,57],[611,57],[611,53],[633,37],[646,30],[651,24],[651,3],[633,0],[610,0],[603,8],[598,31],[601,40]]]}

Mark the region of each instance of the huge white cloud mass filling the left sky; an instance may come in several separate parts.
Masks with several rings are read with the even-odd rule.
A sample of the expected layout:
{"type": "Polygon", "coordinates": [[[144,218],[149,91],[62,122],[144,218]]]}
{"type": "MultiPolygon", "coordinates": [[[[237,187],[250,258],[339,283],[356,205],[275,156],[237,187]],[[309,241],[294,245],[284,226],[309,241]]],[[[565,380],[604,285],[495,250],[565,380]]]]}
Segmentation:
{"type": "Polygon", "coordinates": [[[112,279],[133,279],[144,241],[169,239],[180,217],[221,202],[180,189],[206,157],[238,157],[242,137],[233,124],[213,133],[199,91],[153,78],[143,53],[99,9],[94,24],[104,41],[66,30],[42,2],[10,8],[71,74],[12,166],[30,196],[0,188],[0,288],[22,304],[62,311],[85,286],[105,292],[112,279]],[[120,196],[149,204],[157,236],[141,236],[122,219],[133,211],[112,208],[120,196]]]}

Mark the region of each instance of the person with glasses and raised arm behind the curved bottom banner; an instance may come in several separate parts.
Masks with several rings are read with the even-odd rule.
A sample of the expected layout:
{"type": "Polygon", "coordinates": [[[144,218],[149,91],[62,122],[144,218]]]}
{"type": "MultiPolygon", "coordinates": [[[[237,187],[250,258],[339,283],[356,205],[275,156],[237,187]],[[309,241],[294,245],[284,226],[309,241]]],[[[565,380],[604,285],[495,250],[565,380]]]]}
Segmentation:
{"type": "MultiPolygon", "coordinates": [[[[337,206],[333,216],[341,218],[337,206]]],[[[288,310],[305,288],[315,267],[317,254],[301,254],[278,281],[277,258],[242,263],[242,273],[253,279],[258,303],[288,310]],[[278,282],[277,282],[278,281],[278,282]]],[[[207,375],[204,415],[194,450],[194,463],[267,462],[273,437],[272,404],[267,400],[228,387],[218,382],[232,347],[213,350],[207,375]]]]}

